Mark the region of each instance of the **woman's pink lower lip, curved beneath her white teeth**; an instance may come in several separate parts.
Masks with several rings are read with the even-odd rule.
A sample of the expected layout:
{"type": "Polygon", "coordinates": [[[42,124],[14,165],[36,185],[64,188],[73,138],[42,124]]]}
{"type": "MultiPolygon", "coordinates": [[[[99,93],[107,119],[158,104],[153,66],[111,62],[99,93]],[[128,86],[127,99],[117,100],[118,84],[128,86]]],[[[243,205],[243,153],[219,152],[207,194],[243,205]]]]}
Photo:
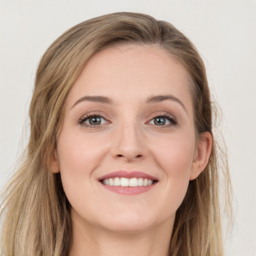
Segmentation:
{"type": "Polygon", "coordinates": [[[149,186],[110,186],[110,185],[105,185],[101,183],[101,185],[104,186],[104,188],[110,191],[113,191],[118,194],[127,194],[127,195],[144,193],[152,189],[155,186],[155,184],[156,183],[153,183],[152,185],[149,185],[149,186]]]}

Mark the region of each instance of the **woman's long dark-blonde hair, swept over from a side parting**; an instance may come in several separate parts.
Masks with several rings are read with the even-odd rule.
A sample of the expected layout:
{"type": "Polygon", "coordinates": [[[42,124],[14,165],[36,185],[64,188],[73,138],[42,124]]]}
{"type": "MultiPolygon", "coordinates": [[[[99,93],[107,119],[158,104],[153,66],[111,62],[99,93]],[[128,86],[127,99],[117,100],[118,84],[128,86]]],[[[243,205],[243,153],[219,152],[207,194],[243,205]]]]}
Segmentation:
{"type": "Polygon", "coordinates": [[[88,59],[115,43],[157,45],[189,73],[195,130],[198,135],[209,131],[213,144],[208,165],[189,182],[177,209],[168,255],[223,255],[220,169],[227,198],[230,184],[226,158],[218,157],[212,132],[213,106],[203,61],[193,44],[170,23],[129,12],[103,15],[75,25],[41,57],[29,108],[29,142],[22,163],[2,194],[1,255],[67,255],[72,239],[70,204],[60,175],[50,171],[49,159],[56,148],[68,91],[88,59]]]}

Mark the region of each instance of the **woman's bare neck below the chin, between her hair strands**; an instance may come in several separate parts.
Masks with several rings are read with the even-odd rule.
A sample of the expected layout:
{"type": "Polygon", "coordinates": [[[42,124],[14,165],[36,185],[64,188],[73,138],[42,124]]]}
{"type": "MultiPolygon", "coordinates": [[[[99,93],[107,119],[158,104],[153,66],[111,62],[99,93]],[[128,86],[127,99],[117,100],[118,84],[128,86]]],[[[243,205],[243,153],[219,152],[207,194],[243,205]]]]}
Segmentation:
{"type": "Polygon", "coordinates": [[[142,231],[116,232],[73,219],[68,256],[167,256],[172,226],[168,221],[142,231]]]}

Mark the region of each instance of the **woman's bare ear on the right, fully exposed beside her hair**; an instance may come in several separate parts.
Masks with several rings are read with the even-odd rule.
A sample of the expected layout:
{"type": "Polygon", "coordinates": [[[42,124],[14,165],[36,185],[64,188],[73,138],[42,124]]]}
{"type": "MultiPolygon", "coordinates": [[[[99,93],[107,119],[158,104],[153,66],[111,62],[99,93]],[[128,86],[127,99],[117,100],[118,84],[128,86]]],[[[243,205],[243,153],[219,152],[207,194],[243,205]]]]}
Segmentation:
{"type": "Polygon", "coordinates": [[[189,180],[195,179],[206,167],[211,152],[211,143],[211,134],[208,131],[202,132],[195,146],[189,180]]]}

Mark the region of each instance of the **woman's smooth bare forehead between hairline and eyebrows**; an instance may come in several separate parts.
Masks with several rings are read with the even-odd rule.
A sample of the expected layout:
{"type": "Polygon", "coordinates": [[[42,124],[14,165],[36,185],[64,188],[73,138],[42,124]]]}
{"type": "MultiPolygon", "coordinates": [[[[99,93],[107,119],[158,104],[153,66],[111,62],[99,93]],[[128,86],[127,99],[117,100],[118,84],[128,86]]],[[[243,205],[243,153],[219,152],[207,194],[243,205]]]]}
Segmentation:
{"type": "Polygon", "coordinates": [[[158,46],[114,45],[89,59],[68,98],[74,101],[85,94],[102,94],[129,101],[174,94],[190,101],[188,77],[183,66],[158,46]]]}

